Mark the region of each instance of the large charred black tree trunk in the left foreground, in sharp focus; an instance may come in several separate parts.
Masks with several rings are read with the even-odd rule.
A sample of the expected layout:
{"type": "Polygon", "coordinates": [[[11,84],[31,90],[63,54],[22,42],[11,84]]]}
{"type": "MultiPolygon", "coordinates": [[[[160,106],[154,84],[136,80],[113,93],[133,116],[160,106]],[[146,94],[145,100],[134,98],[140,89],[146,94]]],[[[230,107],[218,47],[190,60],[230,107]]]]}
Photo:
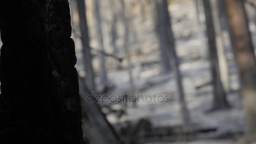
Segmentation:
{"type": "Polygon", "coordinates": [[[1,144],[83,144],[68,0],[0,1],[1,144]]]}

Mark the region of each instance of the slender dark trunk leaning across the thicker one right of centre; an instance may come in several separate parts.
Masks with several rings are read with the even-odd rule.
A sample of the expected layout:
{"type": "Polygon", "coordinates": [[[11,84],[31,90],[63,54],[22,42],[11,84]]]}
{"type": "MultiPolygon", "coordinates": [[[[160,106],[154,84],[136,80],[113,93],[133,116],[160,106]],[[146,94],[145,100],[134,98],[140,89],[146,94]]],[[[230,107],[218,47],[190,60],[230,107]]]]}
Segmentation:
{"type": "Polygon", "coordinates": [[[165,41],[164,43],[167,45],[168,53],[170,54],[170,57],[171,57],[171,66],[175,73],[177,88],[179,91],[181,117],[183,120],[184,128],[186,130],[190,130],[192,128],[191,119],[190,119],[189,111],[187,109],[187,103],[185,100],[184,90],[182,86],[182,75],[179,70],[179,59],[176,55],[175,39],[173,36],[172,27],[171,27],[171,16],[169,15],[167,0],[157,0],[157,7],[159,8],[159,11],[161,11],[163,15],[160,21],[163,22],[165,29],[161,29],[161,33],[164,35],[161,38],[163,38],[163,40],[165,41]]]}

